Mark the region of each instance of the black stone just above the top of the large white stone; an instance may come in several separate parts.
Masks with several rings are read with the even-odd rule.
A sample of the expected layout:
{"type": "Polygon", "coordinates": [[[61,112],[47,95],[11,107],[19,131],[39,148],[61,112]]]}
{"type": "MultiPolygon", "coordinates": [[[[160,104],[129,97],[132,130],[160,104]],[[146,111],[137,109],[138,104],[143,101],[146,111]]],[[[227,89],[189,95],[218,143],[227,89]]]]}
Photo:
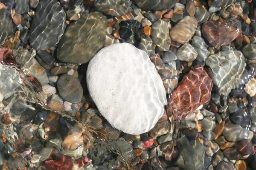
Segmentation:
{"type": "Polygon", "coordinates": [[[137,20],[127,20],[122,21],[119,25],[119,35],[120,37],[126,39],[134,35],[140,28],[140,22],[137,20]]]}

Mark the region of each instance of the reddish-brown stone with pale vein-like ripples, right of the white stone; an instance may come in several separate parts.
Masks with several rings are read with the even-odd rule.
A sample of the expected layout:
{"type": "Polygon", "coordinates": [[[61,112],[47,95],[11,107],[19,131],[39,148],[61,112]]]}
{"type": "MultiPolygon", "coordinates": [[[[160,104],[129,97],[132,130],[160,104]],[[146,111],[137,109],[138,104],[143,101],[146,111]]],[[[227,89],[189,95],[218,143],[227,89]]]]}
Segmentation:
{"type": "Polygon", "coordinates": [[[170,104],[179,119],[195,111],[200,105],[209,102],[212,91],[212,79],[202,65],[196,65],[181,80],[172,92],[175,105],[170,104]]]}

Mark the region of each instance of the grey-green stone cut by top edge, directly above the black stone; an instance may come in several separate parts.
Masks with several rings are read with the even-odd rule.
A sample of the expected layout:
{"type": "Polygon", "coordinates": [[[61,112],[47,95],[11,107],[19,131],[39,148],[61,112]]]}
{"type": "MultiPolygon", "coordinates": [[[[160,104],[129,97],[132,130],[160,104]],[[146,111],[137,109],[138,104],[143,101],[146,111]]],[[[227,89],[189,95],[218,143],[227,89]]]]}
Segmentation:
{"type": "Polygon", "coordinates": [[[115,17],[120,17],[128,12],[126,0],[95,0],[94,6],[97,11],[115,17]]]}

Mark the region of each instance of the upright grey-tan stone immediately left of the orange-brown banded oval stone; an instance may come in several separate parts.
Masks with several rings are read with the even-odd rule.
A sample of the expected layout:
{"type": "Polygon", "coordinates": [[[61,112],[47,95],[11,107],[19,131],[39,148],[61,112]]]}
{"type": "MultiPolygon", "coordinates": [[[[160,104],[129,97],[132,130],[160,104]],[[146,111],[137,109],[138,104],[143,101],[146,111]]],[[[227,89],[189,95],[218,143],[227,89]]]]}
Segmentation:
{"type": "Polygon", "coordinates": [[[151,37],[160,51],[169,51],[171,46],[171,38],[169,35],[168,23],[158,20],[152,25],[151,37]]]}

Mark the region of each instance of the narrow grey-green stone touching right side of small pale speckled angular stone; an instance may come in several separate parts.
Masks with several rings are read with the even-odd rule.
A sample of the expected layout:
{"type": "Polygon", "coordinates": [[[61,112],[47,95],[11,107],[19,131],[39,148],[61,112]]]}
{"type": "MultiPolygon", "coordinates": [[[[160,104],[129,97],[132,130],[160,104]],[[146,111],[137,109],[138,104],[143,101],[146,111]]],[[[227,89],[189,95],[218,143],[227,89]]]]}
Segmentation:
{"type": "Polygon", "coordinates": [[[209,55],[209,51],[207,50],[208,45],[204,42],[204,39],[196,35],[193,37],[191,45],[198,53],[196,60],[199,62],[205,61],[209,55]]]}

